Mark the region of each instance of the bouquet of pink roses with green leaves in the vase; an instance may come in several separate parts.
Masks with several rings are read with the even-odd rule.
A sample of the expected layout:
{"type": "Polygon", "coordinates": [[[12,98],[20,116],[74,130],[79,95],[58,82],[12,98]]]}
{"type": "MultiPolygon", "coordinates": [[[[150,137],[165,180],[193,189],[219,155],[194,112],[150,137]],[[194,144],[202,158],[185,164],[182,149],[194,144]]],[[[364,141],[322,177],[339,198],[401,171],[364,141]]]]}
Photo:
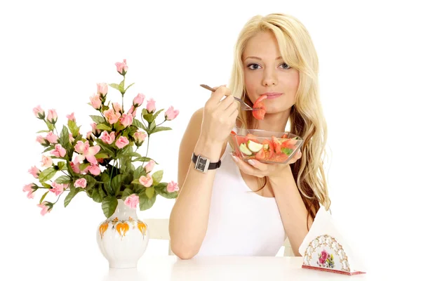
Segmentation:
{"type": "Polygon", "coordinates": [[[175,119],[179,111],[169,107],[161,117],[162,122],[156,124],[163,109],[156,110],[155,100],[150,98],[146,107],[140,110],[145,100],[142,93],[133,98],[129,110],[124,110],[123,98],[134,83],[125,87],[126,60],[116,63],[116,70],[123,80],[119,84],[97,84],[97,93],[90,97],[88,105],[98,114],[90,115],[92,130],[86,136],[82,136],[74,112],[67,115],[67,126],[63,125],[59,133],[57,112],[48,110],[46,116],[40,105],[34,108],[34,115],[45,122],[48,130],[38,131],[45,135],[36,137],[45,148],[41,155],[41,169],[36,165],[29,169],[39,184],[29,183],[23,191],[27,192],[28,198],[34,198],[36,190],[46,190],[37,204],[43,216],[53,209],[63,194],[67,207],[75,195],[85,192],[93,201],[101,203],[107,218],[114,214],[119,199],[143,211],[152,207],[157,195],[168,199],[177,197],[178,183],[162,182],[163,171],[152,172],[159,163],[147,153],[151,136],[171,130],[161,125],[175,119]],[[121,104],[107,102],[108,86],[121,93],[121,104]],[[147,150],[142,156],[136,151],[145,141],[147,150]],[[55,202],[46,201],[47,195],[55,202]]]}

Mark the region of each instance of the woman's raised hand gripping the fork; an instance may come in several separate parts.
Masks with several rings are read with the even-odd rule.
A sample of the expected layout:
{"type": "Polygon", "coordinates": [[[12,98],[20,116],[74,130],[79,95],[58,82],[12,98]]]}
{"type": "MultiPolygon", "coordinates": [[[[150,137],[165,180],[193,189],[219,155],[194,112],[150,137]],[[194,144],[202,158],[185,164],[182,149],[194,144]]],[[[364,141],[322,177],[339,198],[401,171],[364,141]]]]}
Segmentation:
{"type": "Polygon", "coordinates": [[[239,115],[238,107],[231,91],[225,86],[219,86],[203,108],[199,138],[206,143],[225,143],[236,124],[236,117],[239,115]],[[222,100],[224,96],[226,97],[222,100]]]}

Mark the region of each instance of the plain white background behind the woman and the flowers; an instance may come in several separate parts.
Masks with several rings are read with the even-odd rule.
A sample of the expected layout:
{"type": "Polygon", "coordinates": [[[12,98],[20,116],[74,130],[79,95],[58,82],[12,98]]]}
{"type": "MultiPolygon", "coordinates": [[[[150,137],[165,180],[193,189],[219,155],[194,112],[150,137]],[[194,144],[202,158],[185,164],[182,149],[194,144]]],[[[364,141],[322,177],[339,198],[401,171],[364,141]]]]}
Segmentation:
{"type": "MultiPolygon", "coordinates": [[[[149,151],[163,179],[177,181],[180,139],[209,97],[199,84],[227,84],[241,27],[253,15],[274,12],[300,19],[319,54],[333,216],[369,269],[415,264],[421,22],[413,2],[2,1],[1,270],[29,268],[41,277],[62,262],[107,266],[95,241],[104,219],[100,204],[80,193],[65,209],[63,196],[42,217],[41,193],[28,200],[22,192],[43,150],[35,138],[45,127],[33,107],[57,110],[59,128],[75,112],[86,133],[88,115],[95,114],[89,96],[97,82],[120,81],[114,63],[126,58],[126,83],[135,82],[126,108],[144,93],[159,109],[180,110],[166,124],[173,131],[153,135],[149,151]]],[[[116,91],[109,98],[121,102],[116,91]]],[[[159,197],[138,216],[167,218],[172,206],[159,197]]],[[[166,247],[151,241],[145,255],[165,255],[166,247]]]]}

